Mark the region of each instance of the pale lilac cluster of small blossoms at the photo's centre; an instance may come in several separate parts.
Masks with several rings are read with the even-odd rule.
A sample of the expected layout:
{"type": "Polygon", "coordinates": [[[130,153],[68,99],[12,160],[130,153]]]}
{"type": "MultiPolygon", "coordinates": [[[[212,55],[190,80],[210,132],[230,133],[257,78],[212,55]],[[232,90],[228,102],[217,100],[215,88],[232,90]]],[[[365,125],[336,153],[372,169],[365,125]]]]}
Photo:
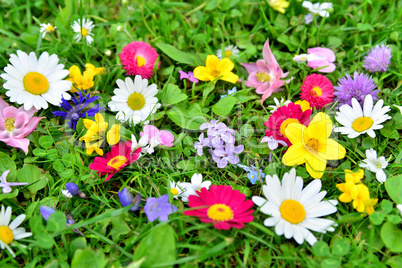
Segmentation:
{"type": "Polygon", "coordinates": [[[244,150],[244,145],[235,146],[235,131],[228,128],[225,123],[218,120],[211,120],[200,126],[201,130],[207,129],[207,138],[201,133],[199,141],[194,143],[197,154],[203,154],[203,148],[208,147],[208,152],[219,168],[225,168],[229,163],[236,165],[239,163],[237,156],[244,150]]]}

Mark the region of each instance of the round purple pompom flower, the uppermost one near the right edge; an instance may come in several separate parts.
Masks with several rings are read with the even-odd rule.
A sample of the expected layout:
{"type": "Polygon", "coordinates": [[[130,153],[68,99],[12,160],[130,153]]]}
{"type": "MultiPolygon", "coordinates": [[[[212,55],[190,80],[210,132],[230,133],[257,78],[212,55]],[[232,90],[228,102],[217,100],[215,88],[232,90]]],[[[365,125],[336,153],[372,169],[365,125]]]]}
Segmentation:
{"type": "Polygon", "coordinates": [[[391,62],[392,49],[384,44],[373,47],[364,58],[363,67],[370,73],[385,72],[391,62]]]}

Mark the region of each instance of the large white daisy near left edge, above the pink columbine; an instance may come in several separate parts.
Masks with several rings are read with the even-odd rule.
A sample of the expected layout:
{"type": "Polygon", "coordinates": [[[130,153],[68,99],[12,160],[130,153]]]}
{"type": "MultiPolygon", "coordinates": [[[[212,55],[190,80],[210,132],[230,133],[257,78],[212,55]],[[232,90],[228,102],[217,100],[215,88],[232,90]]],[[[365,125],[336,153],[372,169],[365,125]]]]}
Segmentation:
{"type": "Polygon", "coordinates": [[[10,62],[1,77],[7,81],[3,87],[11,102],[24,104],[25,110],[33,106],[39,110],[47,109],[48,102],[60,106],[62,97],[71,99],[67,91],[72,84],[62,80],[69,72],[63,69],[63,64],[58,64],[57,55],[43,52],[37,59],[34,52],[28,55],[18,50],[17,55],[11,54],[10,62]]]}

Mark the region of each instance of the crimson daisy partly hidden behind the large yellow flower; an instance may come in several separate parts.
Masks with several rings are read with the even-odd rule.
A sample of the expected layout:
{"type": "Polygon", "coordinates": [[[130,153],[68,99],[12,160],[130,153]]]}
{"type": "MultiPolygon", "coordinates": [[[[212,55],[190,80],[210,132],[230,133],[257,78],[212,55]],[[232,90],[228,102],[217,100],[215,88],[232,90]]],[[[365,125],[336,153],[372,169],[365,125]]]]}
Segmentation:
{"type": "Polygon", "coordinates": [[[291,146],[292,143],[286,138],[285,129],[291,123],[308,126],[311,113],[310,109],[303,112],[301,106],[293,102],[282,106],[269,117],[268,121],[265,121],[264,125],[268,128],[265,130],[265,135],[275,140],[284,141],[288,146],[291,146]]]}

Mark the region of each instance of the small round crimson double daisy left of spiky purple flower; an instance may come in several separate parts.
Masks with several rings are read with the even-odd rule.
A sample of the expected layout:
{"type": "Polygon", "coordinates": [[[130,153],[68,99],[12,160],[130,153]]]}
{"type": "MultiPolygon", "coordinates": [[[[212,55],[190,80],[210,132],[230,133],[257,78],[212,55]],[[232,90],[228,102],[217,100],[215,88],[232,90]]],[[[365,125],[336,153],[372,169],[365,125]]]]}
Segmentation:
{"type": "Polygon", "coordinates": [[[300,97],[310,103],[311,107],[321,110],[334,99],[334,86],[321,74],[307,76],[301,86],[300,97]]]}

